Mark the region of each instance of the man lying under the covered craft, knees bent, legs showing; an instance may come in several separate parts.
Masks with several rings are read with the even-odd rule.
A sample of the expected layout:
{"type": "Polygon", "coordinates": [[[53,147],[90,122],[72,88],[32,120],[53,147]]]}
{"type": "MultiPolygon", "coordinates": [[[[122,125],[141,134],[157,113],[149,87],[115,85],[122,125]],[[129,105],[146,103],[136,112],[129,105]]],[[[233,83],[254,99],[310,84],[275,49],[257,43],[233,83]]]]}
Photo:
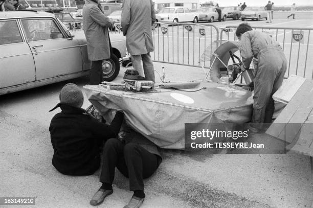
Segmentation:
{"type": "Polygon", "coordinates": [[[140,133],[122,125],[118,138],[110,138],[104,145],[100,176],[102,186],[90,203],[98,205],[113,193],[115,167],[129,178],[129,189],[133,196],[124,208],[138,208],[145,198],[143,179],[150,177],[161,164],[157,146],[140,133]]]}

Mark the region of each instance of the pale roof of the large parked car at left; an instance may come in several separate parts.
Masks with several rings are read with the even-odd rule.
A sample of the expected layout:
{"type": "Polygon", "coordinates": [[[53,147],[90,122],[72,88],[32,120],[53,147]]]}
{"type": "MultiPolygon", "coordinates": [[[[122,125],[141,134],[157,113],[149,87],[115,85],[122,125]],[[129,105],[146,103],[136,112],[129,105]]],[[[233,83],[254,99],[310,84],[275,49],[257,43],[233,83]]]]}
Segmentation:
{"type": "Polygon", "coordinates": [[[28,17],[54,17],[54,14],[37,11],[0,12],[0,19],[28,18],[28,17]]]}

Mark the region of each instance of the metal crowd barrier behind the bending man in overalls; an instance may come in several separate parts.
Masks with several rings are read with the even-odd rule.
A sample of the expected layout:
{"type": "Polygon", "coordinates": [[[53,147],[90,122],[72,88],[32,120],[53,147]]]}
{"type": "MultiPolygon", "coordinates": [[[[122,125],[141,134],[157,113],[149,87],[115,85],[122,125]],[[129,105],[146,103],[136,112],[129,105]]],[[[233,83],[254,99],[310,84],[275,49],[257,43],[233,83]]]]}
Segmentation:
{"type": "MultiPolygon", "coordinates": [[[[220,39],[237,40],[237,26],[227,26],[220,30],[220,39]],[[226,35],[226,38],[223,37],[226,35]]],[[[288,61],[288,68],[285,77],[298,75],[307,79],[313,79],[313,40],[310,39],[310,33],[313,28],[284,28],[284,27],[256,27],[254,30],[260,30],[271,35],[278,41],[288,61]]]]}

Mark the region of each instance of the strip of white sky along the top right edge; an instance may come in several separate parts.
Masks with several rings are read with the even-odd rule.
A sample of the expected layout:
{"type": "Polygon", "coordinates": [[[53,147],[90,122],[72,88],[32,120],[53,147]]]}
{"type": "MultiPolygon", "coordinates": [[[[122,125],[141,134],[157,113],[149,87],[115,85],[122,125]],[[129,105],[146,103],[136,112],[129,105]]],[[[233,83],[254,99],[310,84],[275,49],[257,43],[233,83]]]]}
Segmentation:
{"type": "MultiPolygon", "coordinates": [[[[235,6],[239,3],[245,2],[247,6],[265,6],[269,0],[218,0],[214,1],[218,3],[220,7],[226,7],[226,6],[235,6]]],[[[200,3],[205,3],[206,0],[200,0],[200,3]]],[[[293,3],[297,5],[313,5],[313,0],[271,0],[271,2],[274,2],[274,6],[290,6],[293,3]]]]}

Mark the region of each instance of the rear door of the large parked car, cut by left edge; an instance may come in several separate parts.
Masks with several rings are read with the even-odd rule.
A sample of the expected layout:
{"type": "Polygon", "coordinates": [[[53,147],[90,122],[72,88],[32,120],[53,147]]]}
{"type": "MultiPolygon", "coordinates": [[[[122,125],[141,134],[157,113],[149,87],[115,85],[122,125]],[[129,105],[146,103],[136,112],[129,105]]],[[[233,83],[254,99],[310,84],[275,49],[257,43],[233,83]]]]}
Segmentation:
{"type": "Polygon", "coordinates": [[[17,19],[0,20],[0,88],[35,81],[33,54],[17,19]]]}

